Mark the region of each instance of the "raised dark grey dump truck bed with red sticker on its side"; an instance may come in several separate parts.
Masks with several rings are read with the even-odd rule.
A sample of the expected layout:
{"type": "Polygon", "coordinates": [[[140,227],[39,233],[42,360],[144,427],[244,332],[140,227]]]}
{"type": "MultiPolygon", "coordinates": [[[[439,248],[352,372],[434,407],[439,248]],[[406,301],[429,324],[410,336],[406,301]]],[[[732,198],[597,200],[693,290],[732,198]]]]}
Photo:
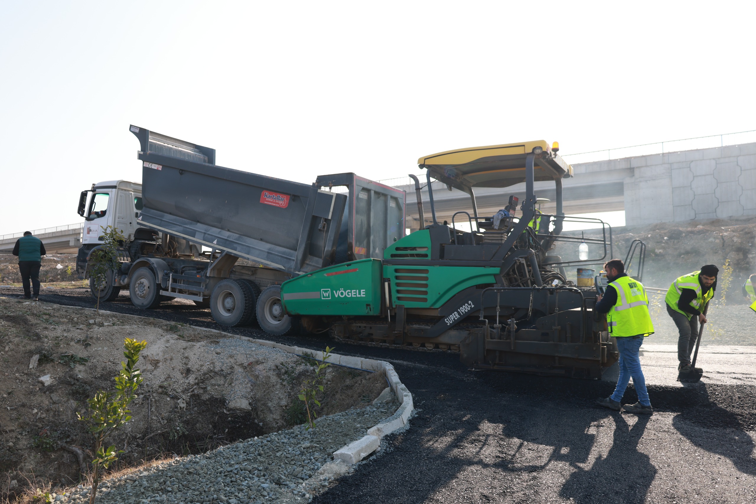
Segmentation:
{"type": "Polygon", "coordinates": [[[144,227],[290,274],[335,261],[345,194],[218,166],[215,150],[132,132],[141,145],[144,227]]]}

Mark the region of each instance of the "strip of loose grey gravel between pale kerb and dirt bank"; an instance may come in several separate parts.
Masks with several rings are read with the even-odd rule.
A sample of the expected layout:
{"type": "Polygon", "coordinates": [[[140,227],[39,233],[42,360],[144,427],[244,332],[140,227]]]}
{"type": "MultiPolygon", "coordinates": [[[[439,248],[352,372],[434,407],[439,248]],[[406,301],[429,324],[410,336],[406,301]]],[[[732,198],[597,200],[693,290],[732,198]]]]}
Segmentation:
{"type": "MultiPolygon", "coordinates": [[[[333,471],[321,468],[333,452],[362,438],[397,407],[391,402],[348,410],[318,419],[309,431],[299,425],[112,478],[98,487],[97,502],[308,502],[328,486],[333,471]]],[[[57,502],[88,501],[89,491],[79,485],[57,502]]]]}

